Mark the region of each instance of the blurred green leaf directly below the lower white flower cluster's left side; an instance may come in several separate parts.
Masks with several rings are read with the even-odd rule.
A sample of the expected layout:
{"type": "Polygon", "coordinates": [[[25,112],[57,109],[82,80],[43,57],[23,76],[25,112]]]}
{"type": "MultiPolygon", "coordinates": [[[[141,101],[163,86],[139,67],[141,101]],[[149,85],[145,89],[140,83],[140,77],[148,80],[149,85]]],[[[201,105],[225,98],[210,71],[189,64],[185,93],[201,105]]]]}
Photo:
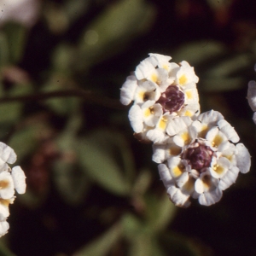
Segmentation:
{"type": "Polygon", "coordinates": [[[148,227],[154,232],[160,232],[166,229],[166,225],[170,224],[175,217],[177,207],[169,200],[167,195],[145,195],[147,204],[148,227]]]}

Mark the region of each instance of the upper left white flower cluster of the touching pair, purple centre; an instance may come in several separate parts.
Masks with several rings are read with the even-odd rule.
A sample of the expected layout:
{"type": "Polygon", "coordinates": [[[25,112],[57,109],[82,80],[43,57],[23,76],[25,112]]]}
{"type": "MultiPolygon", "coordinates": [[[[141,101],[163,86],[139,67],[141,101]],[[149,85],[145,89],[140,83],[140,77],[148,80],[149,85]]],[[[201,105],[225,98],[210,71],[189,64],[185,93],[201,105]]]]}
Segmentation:
{"type": "Polygon", "coordinates": [[[121,103],[134,102],[129,119],[140,141],[161,143],[170,120],[193,118],[200,112],[194,68],[187,61],[177,65],[170,60],[166,55],[149,54],[121,88],[121,103]]]}

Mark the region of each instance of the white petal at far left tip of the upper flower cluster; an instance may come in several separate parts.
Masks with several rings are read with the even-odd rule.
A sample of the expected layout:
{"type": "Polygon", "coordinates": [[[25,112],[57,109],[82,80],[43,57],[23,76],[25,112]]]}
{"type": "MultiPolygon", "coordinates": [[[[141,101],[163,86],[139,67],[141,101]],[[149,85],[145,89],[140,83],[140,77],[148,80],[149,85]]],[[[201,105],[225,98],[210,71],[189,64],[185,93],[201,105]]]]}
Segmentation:
{"type": "Polygon", "coordinates": [[[137,79],[135,76],[129,76],[122,85],[120,93],[120,102],[123,105],[129,105],[134,100],[135,90],[137,88],[137,79]]]}

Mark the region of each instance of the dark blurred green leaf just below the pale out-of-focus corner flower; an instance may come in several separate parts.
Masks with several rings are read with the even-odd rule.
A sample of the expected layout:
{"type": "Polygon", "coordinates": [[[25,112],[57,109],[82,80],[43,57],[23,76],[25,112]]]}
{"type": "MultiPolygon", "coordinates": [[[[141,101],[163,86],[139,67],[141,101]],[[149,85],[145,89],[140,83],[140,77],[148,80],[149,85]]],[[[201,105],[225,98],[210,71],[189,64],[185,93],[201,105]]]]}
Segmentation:
{"type": "Polygon", "coordinates": [[[3,30],[6,32],[8,39],[9,61],[15,64],[20,61],[25,49],[26,26],[22,26],[20,23],[8,22],[3,26],[3,30]]]}

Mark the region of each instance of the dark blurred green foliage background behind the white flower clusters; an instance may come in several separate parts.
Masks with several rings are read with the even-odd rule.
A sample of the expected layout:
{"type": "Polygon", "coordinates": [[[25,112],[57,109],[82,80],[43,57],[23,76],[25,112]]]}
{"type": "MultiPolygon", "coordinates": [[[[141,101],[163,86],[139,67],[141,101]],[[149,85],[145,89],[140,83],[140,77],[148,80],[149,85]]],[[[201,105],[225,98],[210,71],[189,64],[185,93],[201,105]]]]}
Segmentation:
{"type": "Polygon", "coordinates": [[[256,255],[253,0],[0,0],[0,141],[27,192],[0,255],[256,255]],[[35,12],[34,20],[19,15],[35,12]],[[223,113],[252,155],[221,201],[174,207],[119,88],[148,53],[189,61],[201,112],[223,113]]]}

